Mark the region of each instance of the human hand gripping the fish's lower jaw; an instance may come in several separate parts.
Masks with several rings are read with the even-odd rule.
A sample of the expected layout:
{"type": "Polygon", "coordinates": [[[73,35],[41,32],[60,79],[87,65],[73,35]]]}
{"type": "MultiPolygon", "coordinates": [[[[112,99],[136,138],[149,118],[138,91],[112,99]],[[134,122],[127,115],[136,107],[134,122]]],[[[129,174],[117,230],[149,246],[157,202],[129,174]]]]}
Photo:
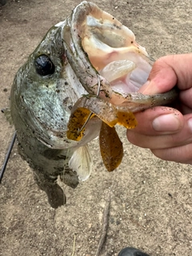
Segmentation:
{"type": "Polygon", "coordinates": [[[138,126],[127,130],[128,140],[149,148],[163,160],[192,164],[192,54],[159,58],[142,94],[160,94],[178,86],[177,110],[155,106],[135,114],[138,126]]]}

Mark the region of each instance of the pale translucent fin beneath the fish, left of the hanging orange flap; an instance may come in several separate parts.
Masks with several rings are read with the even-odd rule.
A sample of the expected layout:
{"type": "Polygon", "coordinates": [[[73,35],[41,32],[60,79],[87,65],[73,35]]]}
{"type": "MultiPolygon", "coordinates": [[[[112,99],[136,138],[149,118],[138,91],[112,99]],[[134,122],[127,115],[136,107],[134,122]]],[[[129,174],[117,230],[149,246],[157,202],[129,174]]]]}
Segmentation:
{"type": "Polygon", "coordinates": [[[88,145],[80,146],[75,150],[69,162],[70,168],[77,172],[80,181],[85,181],[90,177],[92,165],[93,162],[88,145]]]}

